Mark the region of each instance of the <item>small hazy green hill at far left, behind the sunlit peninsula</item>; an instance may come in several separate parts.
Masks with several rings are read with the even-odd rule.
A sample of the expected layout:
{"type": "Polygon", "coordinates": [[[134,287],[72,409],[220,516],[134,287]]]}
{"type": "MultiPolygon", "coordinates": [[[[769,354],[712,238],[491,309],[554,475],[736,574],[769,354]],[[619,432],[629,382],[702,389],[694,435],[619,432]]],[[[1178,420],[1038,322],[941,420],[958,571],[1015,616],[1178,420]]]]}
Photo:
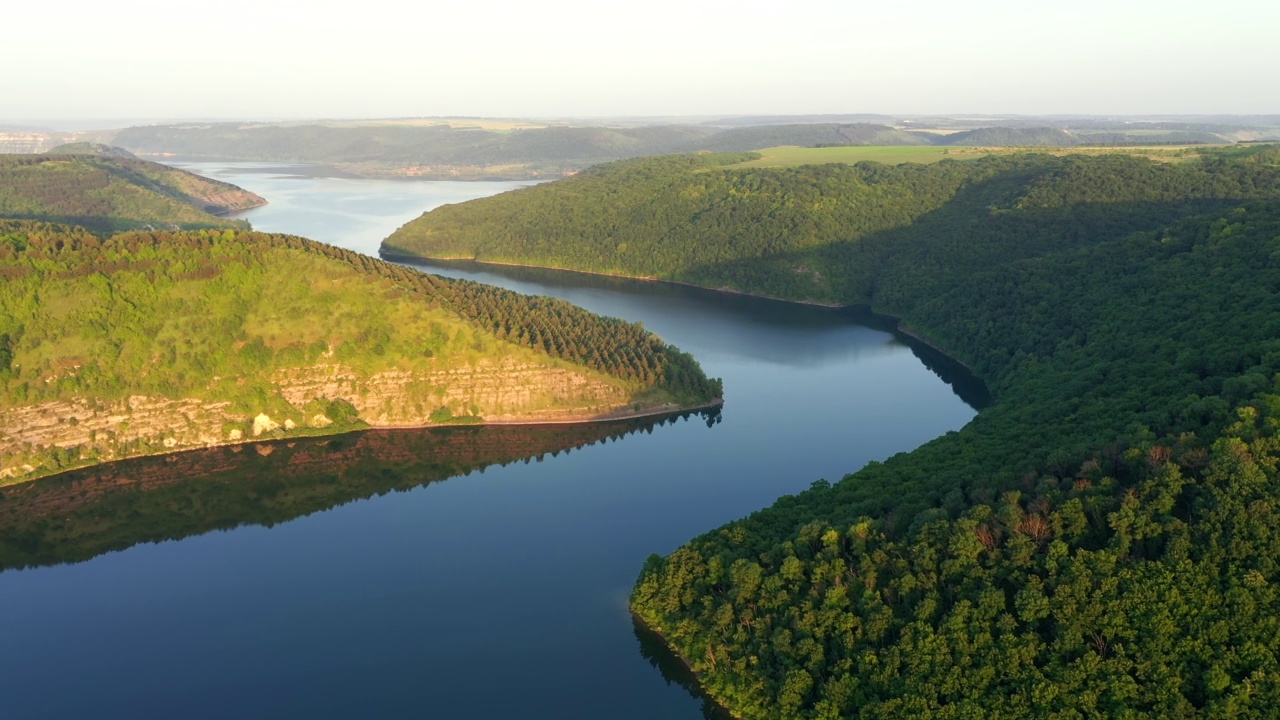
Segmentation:
{"type": "Polygon", "coordinates": [[[0,218],[42,220],[97,233],[129,229],[247,228],[219,213],[265,205],[234,184],[72,143],[45,155],[0,155],[0,218]]]}

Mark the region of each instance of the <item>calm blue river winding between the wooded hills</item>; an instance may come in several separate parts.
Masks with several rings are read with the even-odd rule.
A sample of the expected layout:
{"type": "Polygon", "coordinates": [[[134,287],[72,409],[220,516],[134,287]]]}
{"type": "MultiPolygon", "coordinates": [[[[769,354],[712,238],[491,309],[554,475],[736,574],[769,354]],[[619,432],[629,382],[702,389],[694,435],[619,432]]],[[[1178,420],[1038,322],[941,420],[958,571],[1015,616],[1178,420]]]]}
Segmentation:
{"type": "MultiPolygon", "coordinates": [[[[186,167],[270,200],[243,214],[257,229],[370,254],[422,210],[520,184],[186,167]]],[[[125,487],[105,500],[86,500],[88,479],[24,491],[10,514],[38,518],[0,510],[20,527],[0,557],[44,566],[0,573],[0,715],[696,720],[701,702],[654,669],[627,614],[644,559],[974,414],[909,347],[844,313],[564,273],[431,272],[641,320],[724,379],[723,413],[607,442],[451,436],[509,450],[483,461],[431,446],[393,462],[366,443],[358,461],[323,456],[315,497],[298,474],[311,465],[280,459],[357,441],[151,461],[122,470],[146,482],[104,483],[125,487]],[[154,542],[165,537],[182,539],[154,542]],[[108,547],[124,550],[83,560],[108,547]]]]}

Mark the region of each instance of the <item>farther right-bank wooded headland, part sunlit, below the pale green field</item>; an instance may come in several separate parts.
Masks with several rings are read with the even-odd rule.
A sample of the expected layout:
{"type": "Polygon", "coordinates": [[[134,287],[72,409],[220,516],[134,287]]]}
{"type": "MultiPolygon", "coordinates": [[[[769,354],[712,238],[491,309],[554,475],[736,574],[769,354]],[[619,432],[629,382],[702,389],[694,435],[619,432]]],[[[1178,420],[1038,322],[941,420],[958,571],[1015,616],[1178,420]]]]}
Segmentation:
{"type": "Polygon", "coordinates": [[[865,304],[886,265],[982,269],[1280,197],[1275,156],[1027,154],[746,169],[727,167],[741,155],[646,158],[439,208],[387,238],[383,252],[865,304]]]}

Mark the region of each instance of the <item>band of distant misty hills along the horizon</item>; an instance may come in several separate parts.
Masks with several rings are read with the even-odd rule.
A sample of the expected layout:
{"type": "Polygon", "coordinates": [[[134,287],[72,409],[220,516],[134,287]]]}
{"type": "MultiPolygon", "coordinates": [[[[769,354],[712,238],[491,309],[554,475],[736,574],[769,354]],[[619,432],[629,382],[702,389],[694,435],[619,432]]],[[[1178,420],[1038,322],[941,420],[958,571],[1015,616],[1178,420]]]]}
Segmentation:
{"type": "Polygon", "coordinates": [[[776,146],[1201,145],[1280,140],[1276,117],[940,117],[886,114],[726,118],[187,122],[92,133],[0,132],[0,151],[110,142],[151,158],[315,163],[364,177],[524,179],[675,152],[776,146]]]}

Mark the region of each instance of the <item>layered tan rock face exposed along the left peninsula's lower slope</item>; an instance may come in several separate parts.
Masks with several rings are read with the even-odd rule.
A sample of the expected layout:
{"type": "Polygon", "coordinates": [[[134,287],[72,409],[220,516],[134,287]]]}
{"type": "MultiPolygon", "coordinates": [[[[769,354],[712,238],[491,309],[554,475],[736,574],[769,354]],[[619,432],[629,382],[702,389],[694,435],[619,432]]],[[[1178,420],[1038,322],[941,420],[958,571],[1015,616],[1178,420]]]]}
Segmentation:
{"type": "Polygon", "coordinates": [[[342,398],[375,427],[433,424],[449,414],[492,421],[590,419],[625,406],[625,388],[572,368],[518,361],[410,373],[389,370],[362,377],[351,368],[324,364],[276,373],[280,397],[292,407],[274,414],[246,413],[230,402],[132,396],[120,401],[44,402],[0,410],[0,484],[56,471],[51,448],[65,451],[63,466],[88,461],[210,447],[291,432],[325,428],[330,419],[307,414],[311,401],[342,398]]]}

